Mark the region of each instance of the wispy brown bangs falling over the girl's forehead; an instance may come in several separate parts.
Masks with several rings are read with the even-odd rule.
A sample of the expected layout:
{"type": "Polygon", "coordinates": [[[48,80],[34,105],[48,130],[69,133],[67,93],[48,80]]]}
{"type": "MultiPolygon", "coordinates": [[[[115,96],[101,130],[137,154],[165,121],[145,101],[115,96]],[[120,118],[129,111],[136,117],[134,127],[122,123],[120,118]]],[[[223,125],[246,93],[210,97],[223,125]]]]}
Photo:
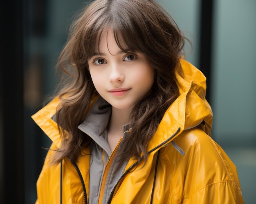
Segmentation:
{"type": "Polygon", "coordinates": [[[116,11],[108,11],[95,20],[86,32],[86,42],[84,44],[87,59],[92,57],[94,53],[100,52],[100,41],[103,33],[112,29],[115,37],[115,42],[120,50],[125,53],[129,52],[145,52],[148,48],[145,47],[145,42],[141,33],[143,29],[139,29],[137,20],[132,19],[128,13],[120,13],[116,11]],[[137,28],[137,29],[135,29],[137,28]]]}

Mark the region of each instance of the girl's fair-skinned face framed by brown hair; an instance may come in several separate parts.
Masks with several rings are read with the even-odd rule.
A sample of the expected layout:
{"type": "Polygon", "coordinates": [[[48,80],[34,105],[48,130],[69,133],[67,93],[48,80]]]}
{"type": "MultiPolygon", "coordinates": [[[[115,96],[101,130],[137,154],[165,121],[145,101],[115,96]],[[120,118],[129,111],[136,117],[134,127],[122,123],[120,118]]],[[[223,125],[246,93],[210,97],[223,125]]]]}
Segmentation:
{"type": "Polygon", "coordinates": [[[102,35],[99,50],[88,59],[97,92],[117,109],[132,108],[153,86],[154,69],[144,54],[122,52],[112,29],[102,35]]]}

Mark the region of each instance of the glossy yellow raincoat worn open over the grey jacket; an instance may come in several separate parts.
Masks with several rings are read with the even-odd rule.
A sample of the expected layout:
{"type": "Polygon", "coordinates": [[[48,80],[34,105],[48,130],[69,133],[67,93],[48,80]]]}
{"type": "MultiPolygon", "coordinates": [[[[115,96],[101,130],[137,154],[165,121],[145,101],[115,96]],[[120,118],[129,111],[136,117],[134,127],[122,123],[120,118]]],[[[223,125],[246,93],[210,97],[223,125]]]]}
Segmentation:
{"type": "MultiPolygon", "coordinates": [[[[153,194],[154,204],[244,203],[235,165],[210,137],[212,111],[205,100],[206,79],[189,62],[183,59],[180,62],[184,71],[184,78],[176,74],[180,96],[166,110],[157,131],[148,143],[148,151],[151,153],[146,165],[141,168],[141,162],[124,176],[111,203],[150,203],[157,151],[160,154],[153,194]],[[184,156],[171,145],[172,140],[181,147],[184,156]]],[[[57,104],[58,98],[32,116],[52,139],[51,149],[57,149],[61,145],[57,125],[51,119],[57,104]]],[[[48,164],[48,158],[53,153],[54,151],[48,152],[38,178],[39,204],[60,203],[60,164],[50,167],[48,164]]],[[[79,156],[77,165],[89,197],[90,149],[86,149],[85,153],[79,156]]],[[[125,170],[135,162],[131,158],[125,170]]],[[[67,158],[63,160],[62,189],[63,203],[84,203],[79,176],[67,158]]]]}

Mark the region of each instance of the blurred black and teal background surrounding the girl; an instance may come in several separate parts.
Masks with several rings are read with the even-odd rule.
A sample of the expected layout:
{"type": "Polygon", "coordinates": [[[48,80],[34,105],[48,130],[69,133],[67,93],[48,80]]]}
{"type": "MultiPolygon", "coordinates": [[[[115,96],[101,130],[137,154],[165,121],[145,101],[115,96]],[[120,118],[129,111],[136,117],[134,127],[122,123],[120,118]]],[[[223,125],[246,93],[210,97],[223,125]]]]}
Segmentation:
{"type": "MultiPolygon", "coordinates": [[[[212,137],[237,167],[245,203],[256,191],[256,1],[158,0],[186,37],[186,59],[207,77],[212,137]]],[[[52,94],[55,64],[85,0],[0,2],[0,203],[36,201],[51,141],[32,121],[52,94]]]]}

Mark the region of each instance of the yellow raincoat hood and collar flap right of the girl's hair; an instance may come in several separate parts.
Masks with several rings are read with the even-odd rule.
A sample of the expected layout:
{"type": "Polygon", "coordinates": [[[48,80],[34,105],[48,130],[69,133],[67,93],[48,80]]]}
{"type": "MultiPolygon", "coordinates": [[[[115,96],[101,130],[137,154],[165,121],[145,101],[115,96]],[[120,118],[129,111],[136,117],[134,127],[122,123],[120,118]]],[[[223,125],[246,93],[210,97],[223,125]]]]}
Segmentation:
{"type": "Polygon", "coordinates": [[[148,143],[148,151],[156,144],[164,143],[170,135],[174,139],[184,130],[197,126],[211,136],[213,113],[205,99],[206,77],[188,61],[180,59],[180,64],[184,77],[175,72],[180,95],[166,110],[155,135],[148,143]]]}

